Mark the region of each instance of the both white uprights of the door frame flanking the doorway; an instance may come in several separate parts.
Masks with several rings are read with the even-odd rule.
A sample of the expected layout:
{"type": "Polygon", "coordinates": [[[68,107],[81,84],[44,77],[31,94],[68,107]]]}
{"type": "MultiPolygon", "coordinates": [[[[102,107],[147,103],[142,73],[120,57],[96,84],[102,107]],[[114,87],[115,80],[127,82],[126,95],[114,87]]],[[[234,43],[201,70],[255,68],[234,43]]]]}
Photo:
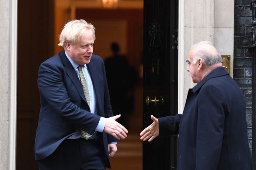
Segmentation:
{"type": "MultiPolygon", "coordinates": [[[[10,100],[9,100],[9,140],[8,140],[8,167],[16,169],[16,117],[17,117],[17,15],[18,0],[10,0],[10,100]]],[[[178,17],[178,113],[184,107],[184,0],[179,0],[178,17]]]]}

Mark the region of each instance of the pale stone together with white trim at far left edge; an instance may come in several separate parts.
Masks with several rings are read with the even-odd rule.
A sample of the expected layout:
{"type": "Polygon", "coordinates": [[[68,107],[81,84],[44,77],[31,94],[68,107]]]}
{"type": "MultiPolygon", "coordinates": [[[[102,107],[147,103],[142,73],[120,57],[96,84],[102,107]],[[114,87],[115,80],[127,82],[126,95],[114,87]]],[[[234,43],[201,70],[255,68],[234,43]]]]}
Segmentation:
{"type": "Polygon", "coordinates": [[[0,170],[15,169],[16,4],[0,1],[0,170]]]}

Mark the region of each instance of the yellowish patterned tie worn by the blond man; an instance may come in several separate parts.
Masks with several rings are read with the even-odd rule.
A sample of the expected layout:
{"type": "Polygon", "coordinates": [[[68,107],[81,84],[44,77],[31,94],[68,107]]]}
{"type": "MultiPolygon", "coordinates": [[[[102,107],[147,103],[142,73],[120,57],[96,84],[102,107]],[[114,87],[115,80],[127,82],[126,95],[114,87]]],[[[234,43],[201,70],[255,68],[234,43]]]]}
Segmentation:
{"type": "MultiPolygon", "coordinates": [[[[84,95],[85,95],[85,98],[87,100],[87,103],[90,107],[90,96],[89,96],[89,90],[88,90],[88,86],[87,86],[87,83],[86,83],[86,79],[84,78],[84,73],[82,71],[82,68],[83,66],[82,65],[79,65],[78,66],[78,70],[79,70],[79,77],[80,77],[80,81],[81,81],[81,84],[82,84],[82,87],[83,87],[83,91],[84,91],[84,95]]],[[[83,130],[80,130],[80,134],[86,139],[88,140],[90,138],[90,134],[85,132],[84,129],[83,130]]]]}

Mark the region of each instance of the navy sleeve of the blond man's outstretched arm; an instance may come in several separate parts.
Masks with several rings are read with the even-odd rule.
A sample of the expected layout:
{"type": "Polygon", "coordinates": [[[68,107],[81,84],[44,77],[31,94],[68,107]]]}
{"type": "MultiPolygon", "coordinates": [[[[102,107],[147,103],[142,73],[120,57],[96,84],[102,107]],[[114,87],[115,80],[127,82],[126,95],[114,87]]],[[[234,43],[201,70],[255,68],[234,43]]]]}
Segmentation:
{"type": "Polygon", "coordinates": [[[38,72],[38,88],[41,95],[42,108],[46,109],[45,112],[49,110],[54,111],[54,113],[51,114],[57,113],[60,117],[76,126],[95,129],[100,120],[100,116],[91,114],[78,107],[79,104],[82,105],[82,101],[79,101],[79,96],[77,97],[77,104],[74,104],[74,101],[70,101],[69,95],[74,95],[70,88],[76,91],[76,87],[74,87],[71,80],[65,81],[64,83],[64,79],[68,79],[68,76],[65,74],[66,71],[64,67],[59,63],[44,62],[40,65],[38,72]],[[70,89],[69,91],[66,86],[70,89]]]}

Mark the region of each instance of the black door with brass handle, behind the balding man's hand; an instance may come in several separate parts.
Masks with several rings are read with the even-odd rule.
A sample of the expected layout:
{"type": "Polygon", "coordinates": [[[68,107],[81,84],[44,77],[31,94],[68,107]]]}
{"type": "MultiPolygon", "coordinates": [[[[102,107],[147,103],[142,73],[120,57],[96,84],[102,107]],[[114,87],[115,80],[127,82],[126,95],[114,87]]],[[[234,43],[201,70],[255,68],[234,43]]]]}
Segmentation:
{"type": "MultiPolygon", "coordinates": [[[[178,0],[144,0],[143,128],[177,114],[178,0]]],[[[177,136],[143,143],[143,170],[175,170],[177,136]]]]}

